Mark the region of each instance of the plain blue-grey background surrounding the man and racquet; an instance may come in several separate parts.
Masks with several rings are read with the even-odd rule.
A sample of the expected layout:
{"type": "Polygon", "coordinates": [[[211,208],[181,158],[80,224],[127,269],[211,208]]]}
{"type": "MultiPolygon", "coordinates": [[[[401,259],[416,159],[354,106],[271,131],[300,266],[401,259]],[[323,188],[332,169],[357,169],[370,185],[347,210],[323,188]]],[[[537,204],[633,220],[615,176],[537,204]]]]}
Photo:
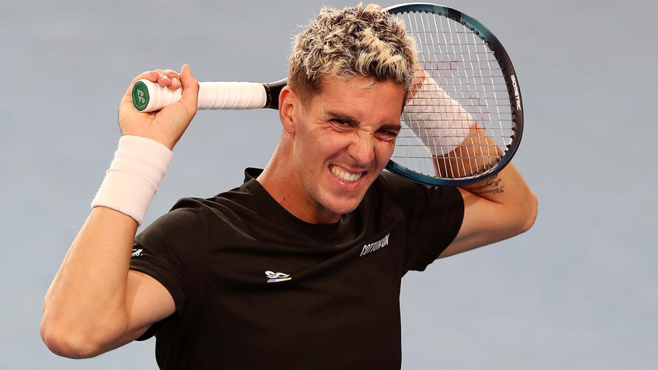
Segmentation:
{"type": "MultiPolygon", "coordinates": [[[[284,77],[296,25],[325,1],[0,1],[1,369],[156,367],[153,340],[69,360],[38,331],[117,145],[119,99],[141,71],[184,62],[200,80],[284,77]]],[[[404,369],[655,369],[658,6],[446,5],[487,25],[514,62],[526,121],[514,162],[539,217],[405,277],[404,369]]],[[[239,184],[280,130],[271,110],[199,112],[146,222],[239,184]]]]}

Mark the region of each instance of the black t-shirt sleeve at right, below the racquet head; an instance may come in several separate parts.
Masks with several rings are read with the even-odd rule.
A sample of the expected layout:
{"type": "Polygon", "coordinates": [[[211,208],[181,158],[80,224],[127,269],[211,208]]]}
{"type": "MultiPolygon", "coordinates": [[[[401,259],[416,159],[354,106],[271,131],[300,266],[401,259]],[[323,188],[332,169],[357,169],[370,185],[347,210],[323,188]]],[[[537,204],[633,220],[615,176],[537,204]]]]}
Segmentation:
{"type": "Polygon", "coordinates": [[[402,275],[424,271],[452,243],[464,218],[464,201],[453,186],[426,186],[385,173],[404,212],[406,242],[402,275]]]}

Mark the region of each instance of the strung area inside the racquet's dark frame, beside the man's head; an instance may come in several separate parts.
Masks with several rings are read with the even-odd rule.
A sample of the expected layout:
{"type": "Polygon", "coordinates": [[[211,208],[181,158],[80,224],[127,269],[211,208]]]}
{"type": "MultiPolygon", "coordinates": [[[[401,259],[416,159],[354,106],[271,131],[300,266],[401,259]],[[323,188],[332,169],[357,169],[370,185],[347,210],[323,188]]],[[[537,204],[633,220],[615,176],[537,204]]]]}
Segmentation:
{"type": "Polygon", "coordinates": [[[417,85],[421,88],[407,102],[391,159],[431,177],[465,179],[487,173],[513,135],[510,97],[496,56],[480,36],[444,15],[393,16],[406,23],[417,42],[419,64],[431,79],[417,85]],[[450,99],[420,99],[436,95],[437,88],[450,99]],[[466,114],[456,112],[461,109],[466,114]],[[455,145],[445,143],[461,147],[452,150],[455,145]]]}

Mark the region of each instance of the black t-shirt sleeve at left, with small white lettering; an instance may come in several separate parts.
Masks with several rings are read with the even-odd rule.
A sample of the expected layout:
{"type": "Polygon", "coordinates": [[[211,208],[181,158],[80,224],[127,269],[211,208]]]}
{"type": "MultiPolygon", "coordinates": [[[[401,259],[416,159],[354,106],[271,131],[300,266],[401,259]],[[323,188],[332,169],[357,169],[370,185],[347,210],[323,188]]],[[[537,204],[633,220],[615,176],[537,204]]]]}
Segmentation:
{"type": "MultiPolygon", "coordinates": [[[[204,206],[195,199],[182,199],[135,237],[130,269],[154,277],[167,288],[176,307],[172,316],[180,318],[202,290],[207,251],[204,206]]],[[[162,323],[151,325],[138,341],[156,334],[162,323]]]]}

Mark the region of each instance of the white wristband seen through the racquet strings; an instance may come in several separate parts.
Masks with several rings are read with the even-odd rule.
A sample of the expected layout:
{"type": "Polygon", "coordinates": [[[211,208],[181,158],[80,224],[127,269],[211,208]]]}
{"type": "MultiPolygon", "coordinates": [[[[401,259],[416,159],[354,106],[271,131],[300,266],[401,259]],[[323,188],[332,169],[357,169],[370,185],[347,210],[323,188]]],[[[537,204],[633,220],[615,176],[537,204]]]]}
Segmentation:
{"type": "Polygon", "coordinates": [[[406,103],[404,113],[411,131],[432,156],[445,156],[459,147],[475,124],[473,116],[429,76],[406,103]]]}

